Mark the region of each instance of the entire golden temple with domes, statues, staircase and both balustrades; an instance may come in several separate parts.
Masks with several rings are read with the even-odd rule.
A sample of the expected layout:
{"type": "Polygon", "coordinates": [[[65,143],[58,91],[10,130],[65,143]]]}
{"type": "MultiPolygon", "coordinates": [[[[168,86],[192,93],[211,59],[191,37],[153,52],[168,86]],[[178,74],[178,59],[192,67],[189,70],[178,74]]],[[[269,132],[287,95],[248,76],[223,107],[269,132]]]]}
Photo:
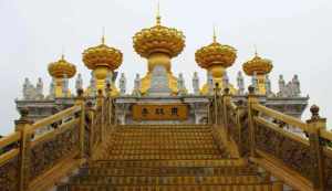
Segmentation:
{"type": "Polygon", "coordinates": [[[25,78],[15,131],[0,137],[0,191],[332,190],[332,132],[315,105],[301,120],[299,76],[279,75],[273,92],[278,65],[256,51],[231,82],[238,50],[214,32],[193,53],[206,82],[195,72],[188,88],[172,68],[185,40],[159,13],[135,33],[147,70],[133,89],[117,71],[125,55],[104,35],[82,51],[91,78],[64,55],[45,65],[48,93],[25,78]]]}

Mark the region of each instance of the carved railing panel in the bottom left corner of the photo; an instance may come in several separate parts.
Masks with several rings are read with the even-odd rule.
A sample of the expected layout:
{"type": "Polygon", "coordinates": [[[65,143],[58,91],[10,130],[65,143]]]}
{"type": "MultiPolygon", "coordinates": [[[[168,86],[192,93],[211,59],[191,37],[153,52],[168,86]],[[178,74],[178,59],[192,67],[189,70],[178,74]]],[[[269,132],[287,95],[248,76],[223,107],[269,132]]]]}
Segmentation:
{"type": "Polygon", "coordinates": [[[0,165],[0,190],[18,191],[19,190],[19,157],[14,157],[3,165],[0,165]]]}

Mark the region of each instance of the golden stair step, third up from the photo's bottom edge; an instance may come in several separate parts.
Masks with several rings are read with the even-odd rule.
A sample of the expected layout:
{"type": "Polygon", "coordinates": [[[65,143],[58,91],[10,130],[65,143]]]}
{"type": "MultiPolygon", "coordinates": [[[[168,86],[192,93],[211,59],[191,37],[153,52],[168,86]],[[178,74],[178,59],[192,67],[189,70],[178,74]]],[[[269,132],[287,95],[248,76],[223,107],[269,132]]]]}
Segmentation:
{"type": "Polygon", "coordinates": [[[91,176],[246,176],[255,174],[255,167],[162,167],[162,168],[83,168],[91,176]]]}

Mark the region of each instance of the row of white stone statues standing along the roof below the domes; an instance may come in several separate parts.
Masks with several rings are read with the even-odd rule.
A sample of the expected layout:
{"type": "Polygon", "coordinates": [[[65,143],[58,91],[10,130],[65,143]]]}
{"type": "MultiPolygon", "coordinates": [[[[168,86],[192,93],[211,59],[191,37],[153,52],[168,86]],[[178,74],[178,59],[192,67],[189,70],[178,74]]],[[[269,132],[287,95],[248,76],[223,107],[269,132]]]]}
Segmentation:
{"type": "MultiPolygon", "coordinates": [[[[157,71],[158,72],[158,71],[157,71]]],[[[158,74],[159,75],[159,74],[158,74]]],[[[160,77],[156,75],[156,79],[153,79],[153,82],[155,82],[154,84],[156,84],[156,86],[160,85],[160,84],[167,84],[165,83],[165,77],[160,77]]],[[[114,81],[116,78],[116,73],[110,73],[105,79],[105,83],[108,84],[114,84],[114,81]],[[114,76],[115,75],[115,76],[114,76]]],[[[166,79],[167,81],[167,79],[166,79]]],[[[53,78],[51,84],[50,84],[50,93],[48,96],[43,95],[43,82],[42,78],[38,79],[38,83],[35,85],[33,85],[29,78],[24,79],[24,84],[23,84],[23,99],[25,100],[40,100],[40,99],[53,99],[55,97],[55,83],[62,83],[62,95],[63,97],[72,97],[73,95],[70,92],[70,87],[69,87],[69,78],[66,76],[64,76],[61,81],[58,79],[58,82],[55,82],[55,79],[53,78]]],[[[194,73],[193,75],[193,94],[191,95],[199,95],[200,94],[200,79],[199,76],[197,74],[197,72],[194,73]]],[[[300,81],[298,75],[294,75],[293,78],[286,83],[286,81],[283,79],[283,76],[280,75],[279,76],[279,92],[277,94],[272,93],[272,88],[271,88],[271,81],[269,79],[269,76],[266,75],[266,81],[264,81],[264,86],[266,86],[266,94],[268,97],[299,97],[301,94],[300,91],[300,81]]],[[[207,84],[208,84],[208,92],[209,94],[214,94],[214,87],[215,87],[215,83],[212,79],[212,76],[210,74],[207,74],[207,84]]],[[[228,74],[225,73],[224,77],[222,77],[222,85],[224,87],[229,86],[229,77],[228,74]]],[[[251,77],[251,85],[256,88],[258,88],[258,79],[257,76],[253,75],[251,77]]],[[[122,73],[118,79],[118,88],[120,88],[120,94],[121,95],[126,95],[126,86],[127,86],[127,79],[125,77],[125,74],[122,73]]],[[[237,75],[237,94],[238,95],[245,95],[246,94],[246,85],[245,85],[245,78],[241,72],[238,72],[237,75]]],[[[75,79],[75,89],[80,89],[80,88],[84,88],[83,87],[83,78],[82,75],[79,74],[76,79],[75,79]]],[[[139,88],[141,88],[141,76],[139,74],[136,74],[136,77],[134,79],[134,89],[132,92],[133,96],[141,96],[139,93],[139,88]]],[[[177,88],[178,88],[178,95],[187,95],[188,91],[186,88],[186,84],[185,84],[185,79],[184,79],[184,75],[181,73],[178,74],[177,77],[177,88]]],[[[97,94],[97,89],[96,89],[96,79],[94,77],[94,74],[91,73],[91,79],[90,79],[90,85],[87,87],[89,89],[89,96],[96,96],[97,94]]]]}

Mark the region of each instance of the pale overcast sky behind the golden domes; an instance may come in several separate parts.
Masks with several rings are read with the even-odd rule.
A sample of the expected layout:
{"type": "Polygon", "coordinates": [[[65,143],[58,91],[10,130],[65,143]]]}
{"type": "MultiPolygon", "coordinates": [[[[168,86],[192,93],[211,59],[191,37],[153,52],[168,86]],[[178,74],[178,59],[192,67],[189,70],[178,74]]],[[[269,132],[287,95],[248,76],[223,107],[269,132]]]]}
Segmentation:
{"type": "MultiPolygon", "coordinates": [[[[59,60],[62,47],[87,85],[90,71],[82,52],[100,43],[103,26],[107,44],[124,53],[118,71],[125,72],[132,89],[135,73],[146,73],[146,61],[134,52],[132,36],[155,23],[156,4],[155,0],[0,0],[0,134],[13,130],[19,116],[14,99],[22,97],[24,77],[33,83],[42,77],[49,92],[46,67],[59,60]]],[[[236,84],[236,73],[252,57],[256,44],[261,56],[273,61],[274,91],[279,74],[286,81],[299,74],[302,94],[321,107],[322,116],[332,117],[331,0],[160,0],[160,13],[164,25],[186,35],[173,72],[184,73],[188,88],[195,71],[200,82],[206,81],[195,51],[211,42],[215,24],[218,40],[238,50],[228,70],[231,83],[236,84]]],[[[74,79],[70,83],[73,88],[74,79]]],[[[303,118],[308,117],[307,110],[303,118]]]]}

